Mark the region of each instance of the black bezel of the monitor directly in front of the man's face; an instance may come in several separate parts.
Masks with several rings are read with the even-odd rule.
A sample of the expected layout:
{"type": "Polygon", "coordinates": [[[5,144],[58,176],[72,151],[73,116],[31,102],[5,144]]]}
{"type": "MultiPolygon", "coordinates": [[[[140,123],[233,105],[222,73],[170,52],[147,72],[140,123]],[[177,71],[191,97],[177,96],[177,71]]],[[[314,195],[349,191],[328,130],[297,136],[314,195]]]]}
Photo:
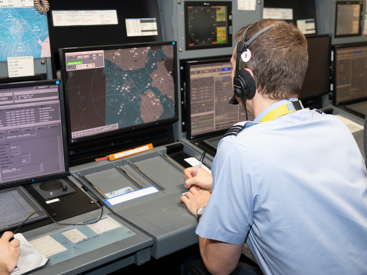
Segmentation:
{"type": "Polygon", "coordinates": [[[190,65],[201,65],[201,64],[210,64],[210,63],[230,62],[231,58],[232,58],[232,56],[228,56],[228,57],[221,56],[219,58],[210,57],[208,59],[187,60],[187,61],[184,62],[184,64],[185,64],[185,107],[186,107],[185,108],[186,109],[186,122],[185,122],[185,124],[187,125],[186,126],[187,139],[192,140],[192,139],[199,139],[199,138],[208,137],[208,136],[222,135],[226,131],[228,131],[228,129],[222,129],[222,130],[203,133],[203,134],[194,135],[194,136],[191,135],[191,128],[190,128],[190,125],[191,125],[190,65]]]}

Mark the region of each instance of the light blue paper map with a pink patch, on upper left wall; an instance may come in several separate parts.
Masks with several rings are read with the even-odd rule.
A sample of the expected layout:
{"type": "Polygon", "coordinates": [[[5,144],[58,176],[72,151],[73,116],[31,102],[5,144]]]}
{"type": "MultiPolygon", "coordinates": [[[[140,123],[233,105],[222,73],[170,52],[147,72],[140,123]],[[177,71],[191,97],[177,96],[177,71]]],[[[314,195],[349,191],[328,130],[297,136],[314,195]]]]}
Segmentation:
{"type": "Polygon", "coordinates": [[[47,16],[35,8],[0,8],[0,61],[50,57],[47,16]]]}

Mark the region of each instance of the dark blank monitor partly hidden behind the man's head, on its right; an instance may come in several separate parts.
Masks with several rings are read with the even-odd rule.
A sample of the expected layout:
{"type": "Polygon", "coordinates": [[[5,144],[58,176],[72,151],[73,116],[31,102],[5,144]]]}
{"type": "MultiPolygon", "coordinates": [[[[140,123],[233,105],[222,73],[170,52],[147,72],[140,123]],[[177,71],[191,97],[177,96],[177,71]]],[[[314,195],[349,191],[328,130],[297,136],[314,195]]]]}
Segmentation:
{"type": "Polygon", "coordinates": [[[307,36],[308,67],[299,99],[312,98],[330,91],[331,34],[307,36]]]}

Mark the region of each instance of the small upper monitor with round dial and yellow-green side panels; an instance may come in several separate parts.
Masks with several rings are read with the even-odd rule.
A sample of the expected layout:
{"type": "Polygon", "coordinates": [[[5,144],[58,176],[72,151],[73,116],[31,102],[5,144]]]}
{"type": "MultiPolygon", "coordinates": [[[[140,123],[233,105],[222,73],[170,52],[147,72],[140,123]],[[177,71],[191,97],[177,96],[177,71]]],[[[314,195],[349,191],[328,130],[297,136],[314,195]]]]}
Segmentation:
{"type": "Polygon", "coordinates": [[[186,51],[232,47],[232,2],[184,3],[186,51]]]}

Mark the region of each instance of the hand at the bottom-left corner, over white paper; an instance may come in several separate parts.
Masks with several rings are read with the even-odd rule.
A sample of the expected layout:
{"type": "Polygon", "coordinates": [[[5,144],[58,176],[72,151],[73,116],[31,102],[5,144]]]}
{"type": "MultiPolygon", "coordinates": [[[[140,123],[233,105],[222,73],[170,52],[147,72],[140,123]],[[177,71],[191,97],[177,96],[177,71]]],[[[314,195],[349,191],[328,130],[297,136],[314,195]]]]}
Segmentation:
{"type": "Polygon", "coordinates": [[[10,231],[7,231],[0,238],[0,274],[9,274],[9,272],[13,271],[15,265],[17,265],[19,253],[21,249],[19,245],[18,239],[14,239],[9,242],[10,238],[12,238],[14,234],[10,231]],[[5,272],[5,273],[4,273],[5,272]]]}

